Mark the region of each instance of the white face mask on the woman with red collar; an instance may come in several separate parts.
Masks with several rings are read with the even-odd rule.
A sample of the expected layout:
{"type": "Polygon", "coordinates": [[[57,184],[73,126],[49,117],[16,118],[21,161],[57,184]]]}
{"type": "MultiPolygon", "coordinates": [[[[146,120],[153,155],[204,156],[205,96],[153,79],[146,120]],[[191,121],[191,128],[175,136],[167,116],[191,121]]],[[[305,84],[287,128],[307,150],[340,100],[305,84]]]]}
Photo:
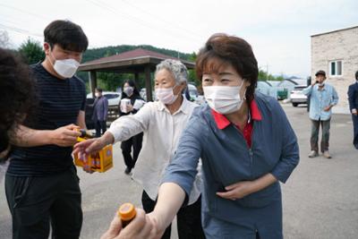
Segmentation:
{"type": "Polygon", "coordinates": [[[241,86],[204,86],[202,89],[209,107],[221,115],[226,115],[243,106],[244,98],[240,97],[242,87],[243,83],[241,86]]]}

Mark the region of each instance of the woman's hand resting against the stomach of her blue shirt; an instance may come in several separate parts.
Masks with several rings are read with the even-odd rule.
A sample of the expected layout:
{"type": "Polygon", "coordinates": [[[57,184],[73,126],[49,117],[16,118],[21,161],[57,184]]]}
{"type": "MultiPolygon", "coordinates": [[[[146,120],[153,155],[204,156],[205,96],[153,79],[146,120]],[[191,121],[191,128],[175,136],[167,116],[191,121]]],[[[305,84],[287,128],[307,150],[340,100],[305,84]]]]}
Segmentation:
{"type": "Polygon", "coordinates": [[[217,196],[228,200],[242,199],[243,197],[255,192],[255,187],[251,181],[243,181],[225,187],[226,192],[217,192],[217,196]]]}

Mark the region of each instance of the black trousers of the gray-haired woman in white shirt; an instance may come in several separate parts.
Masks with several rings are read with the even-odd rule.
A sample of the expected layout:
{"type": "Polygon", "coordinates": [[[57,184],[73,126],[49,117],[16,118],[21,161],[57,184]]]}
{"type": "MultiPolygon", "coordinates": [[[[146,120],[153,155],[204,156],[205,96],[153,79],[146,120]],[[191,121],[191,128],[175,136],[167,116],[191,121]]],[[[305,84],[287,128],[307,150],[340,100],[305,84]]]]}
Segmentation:
{"type": "MultiPolygon", "coordinates": [[[[141,195],[141,203],[143,209],[149,213],[156,206],[156,201],[149,198],[147,192],[143,191],[141,195]]],[[[176,222],[178,226],[179,239],[201,239],[205,238],[201,226],[201,197],[192,205],[179,209],[176,214],[176,222]]],[[[170,239],[171,226],[166,228],[166,232],[162,239],[170,239]]]]}

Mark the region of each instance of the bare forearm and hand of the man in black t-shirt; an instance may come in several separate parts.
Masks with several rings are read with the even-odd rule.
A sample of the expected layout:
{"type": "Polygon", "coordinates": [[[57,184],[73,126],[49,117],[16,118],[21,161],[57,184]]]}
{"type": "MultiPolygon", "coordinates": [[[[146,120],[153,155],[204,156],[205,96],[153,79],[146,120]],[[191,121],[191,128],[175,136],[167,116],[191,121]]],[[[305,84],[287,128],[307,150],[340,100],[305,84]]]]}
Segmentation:
{"type": "Polygon", "coordinates": [[[36,147],[48,144],[68,147],[76,143],[80,132],[74,129],[79,127],[75,124],[69,124],[56,130],[34,130],[24,125],[19,125],[11,143],[19,147],[36,147]]]}

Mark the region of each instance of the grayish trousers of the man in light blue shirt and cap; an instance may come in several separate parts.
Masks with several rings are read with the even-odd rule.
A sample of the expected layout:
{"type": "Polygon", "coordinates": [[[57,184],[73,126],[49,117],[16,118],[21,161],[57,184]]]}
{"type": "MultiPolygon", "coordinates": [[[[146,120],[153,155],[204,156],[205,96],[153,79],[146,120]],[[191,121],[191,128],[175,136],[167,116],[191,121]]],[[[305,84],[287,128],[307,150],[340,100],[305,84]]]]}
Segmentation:
{"type": "Polygon", "coordinates": [[[320,151],[323,153],[329,147],[329,129],[330,119],[328,120],[311,120],[311,150],[319,151],[319,134],[320,125],[322,127],[322,139],[320,140],[320,151]]]}

